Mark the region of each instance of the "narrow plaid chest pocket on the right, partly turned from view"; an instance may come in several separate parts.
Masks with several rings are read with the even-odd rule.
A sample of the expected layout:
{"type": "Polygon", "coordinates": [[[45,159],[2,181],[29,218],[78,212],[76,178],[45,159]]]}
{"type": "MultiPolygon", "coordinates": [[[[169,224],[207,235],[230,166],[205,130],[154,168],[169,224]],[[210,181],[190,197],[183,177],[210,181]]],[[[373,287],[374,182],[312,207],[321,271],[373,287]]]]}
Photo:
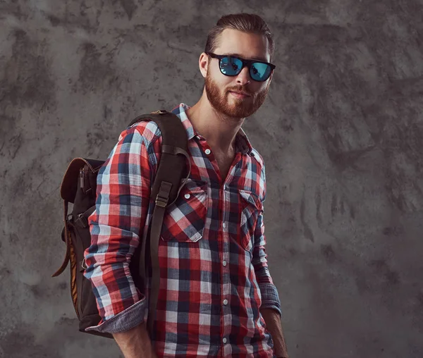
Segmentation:
{"type": "Polygon", "coordinates": [[[239,190],[241,202],[240,243],[244,249],[252,249],[255,227],[259,214],[263,211],[262,202],[254,192],[239,190]]]}

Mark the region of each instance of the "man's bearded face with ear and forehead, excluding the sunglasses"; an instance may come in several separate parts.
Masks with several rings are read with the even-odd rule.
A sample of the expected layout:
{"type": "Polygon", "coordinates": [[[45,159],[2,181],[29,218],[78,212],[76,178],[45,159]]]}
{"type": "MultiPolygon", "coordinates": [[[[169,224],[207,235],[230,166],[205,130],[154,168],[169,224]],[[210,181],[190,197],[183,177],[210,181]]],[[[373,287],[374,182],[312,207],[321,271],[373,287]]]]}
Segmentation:
{"type": "MultiPolygon", "coordinates": [[[[245,59],[261,59],[269,62],[269,47],[266,37],[248,34],[233,29],[225,29],[219,38],[214,54],[238,54],[245,59]]],[[[205,77],[205,92],[210,104],[225,116],[245,118],[251,116],[266,99],[271,77],[264,82],[250,78],[247,68],[233,77],[223,75],[219,70],[219,59],[200,57],[200,69],[205,77]],[[236,94],[243,92],[247,96],[236,94]]]]}

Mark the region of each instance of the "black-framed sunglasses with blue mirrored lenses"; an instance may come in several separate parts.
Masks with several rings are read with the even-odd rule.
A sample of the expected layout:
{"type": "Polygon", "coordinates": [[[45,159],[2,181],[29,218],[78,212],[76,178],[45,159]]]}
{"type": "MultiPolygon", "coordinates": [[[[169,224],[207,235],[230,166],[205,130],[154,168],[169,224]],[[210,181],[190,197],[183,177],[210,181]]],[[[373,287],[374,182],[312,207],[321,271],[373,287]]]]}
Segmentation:
{"type": "Polygon", "coordinates": [[[264,61],[245,60],[237,56],[216,55],[212,54],[212,52],[206,52],[206,54],[212,58],[219,58],[219,68],[221,73],[226,76],[239,75],[241,70],[247,66],[250,77],[253,80],[264,82],[270,77],[271,71],[276,68],[275,65],[264,61]]]}

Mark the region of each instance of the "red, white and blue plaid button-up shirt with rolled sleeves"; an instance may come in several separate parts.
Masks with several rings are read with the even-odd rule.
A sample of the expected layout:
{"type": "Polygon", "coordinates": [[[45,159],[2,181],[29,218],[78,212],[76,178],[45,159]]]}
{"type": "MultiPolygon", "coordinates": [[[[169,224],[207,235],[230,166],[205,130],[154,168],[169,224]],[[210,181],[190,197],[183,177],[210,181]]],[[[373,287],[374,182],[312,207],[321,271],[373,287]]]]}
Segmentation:
{"type": "MultiPolygon", "coordinates": [[[[264,251],[263,159],[240,130],[235,160],[221,178],[188,108],[173,110],[188,134],[192,170],[161,231],[155,350],[158,357],[272,357],[259,310],[281,313],[281,305],[264,251]]],[[[160,153],[157,125],[137,123],[121,133],[99,171],[85,277],[102,321],[88,330],[123,332],[147,318],[148,294],[135,288],[129,263],[152,218],[150,186],[160,153]]]]}

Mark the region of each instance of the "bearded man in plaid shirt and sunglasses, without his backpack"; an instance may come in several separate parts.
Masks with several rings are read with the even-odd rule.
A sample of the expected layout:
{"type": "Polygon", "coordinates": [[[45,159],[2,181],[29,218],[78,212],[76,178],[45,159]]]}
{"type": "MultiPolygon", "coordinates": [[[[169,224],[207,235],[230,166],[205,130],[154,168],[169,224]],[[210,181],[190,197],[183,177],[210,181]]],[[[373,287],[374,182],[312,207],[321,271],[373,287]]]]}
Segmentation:
{"type": "Polygon", "coordinates": [[[223,16],[200,56],[200,101],[173,110],[188,134],[192,170],[164,218],[152,340],[148,297],[135,288],[128,265],[152,217],[157,125],[122,132],[99,172],[85,277],[102,321],[88,329],[113,333],[125,358],[288,357],[264,251],[264,163],[240,129],[264,102],[273,52],[262,18],[223,16]]]}

